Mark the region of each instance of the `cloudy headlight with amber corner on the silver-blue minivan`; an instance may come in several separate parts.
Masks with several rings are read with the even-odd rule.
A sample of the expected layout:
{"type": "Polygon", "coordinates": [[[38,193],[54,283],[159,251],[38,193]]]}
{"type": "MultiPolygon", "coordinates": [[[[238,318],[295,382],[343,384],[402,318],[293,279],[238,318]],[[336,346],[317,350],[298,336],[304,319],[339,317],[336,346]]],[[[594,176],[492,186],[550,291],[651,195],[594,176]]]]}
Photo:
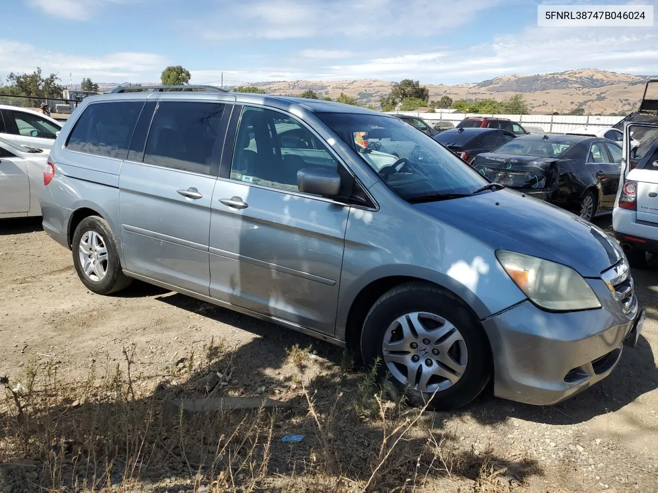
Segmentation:
{"type": "Polygon", "coordinates": [[[541,308],[559,312],[601,308],[590,285],[570,267],[507,250],[496,250],[495,256],[519,289],[541,308]]]}

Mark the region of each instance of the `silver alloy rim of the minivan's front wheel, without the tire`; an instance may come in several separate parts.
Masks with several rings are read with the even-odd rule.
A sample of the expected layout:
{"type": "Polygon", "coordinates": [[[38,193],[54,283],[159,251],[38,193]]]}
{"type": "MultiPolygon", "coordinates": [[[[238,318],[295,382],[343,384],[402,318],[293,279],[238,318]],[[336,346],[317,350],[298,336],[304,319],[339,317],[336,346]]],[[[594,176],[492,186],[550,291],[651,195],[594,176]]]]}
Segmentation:
{"type": "Polygon", "coordinates": [[[428,312],[397,317],[384,333],[382,356],[397,381],[428,393],[455,385],[468,364],[466,342],[459,329],[428,312]]]}

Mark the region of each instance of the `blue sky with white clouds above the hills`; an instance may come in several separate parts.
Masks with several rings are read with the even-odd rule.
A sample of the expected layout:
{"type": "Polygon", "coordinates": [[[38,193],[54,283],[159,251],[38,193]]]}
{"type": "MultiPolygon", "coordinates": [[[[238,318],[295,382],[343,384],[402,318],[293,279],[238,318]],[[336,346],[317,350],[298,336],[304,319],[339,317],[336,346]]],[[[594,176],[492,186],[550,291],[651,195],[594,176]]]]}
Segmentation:
{"type": "MultiPolygon", "coordinates": [[[[653,28],[539,28],[538,3],[658,0],[4,0],[0,78],[59,72],[63,83],[418,79],[599,68],[658,74],[653,28]]],[[[658,7],[654,7],[658,15],[658,7]]]]}

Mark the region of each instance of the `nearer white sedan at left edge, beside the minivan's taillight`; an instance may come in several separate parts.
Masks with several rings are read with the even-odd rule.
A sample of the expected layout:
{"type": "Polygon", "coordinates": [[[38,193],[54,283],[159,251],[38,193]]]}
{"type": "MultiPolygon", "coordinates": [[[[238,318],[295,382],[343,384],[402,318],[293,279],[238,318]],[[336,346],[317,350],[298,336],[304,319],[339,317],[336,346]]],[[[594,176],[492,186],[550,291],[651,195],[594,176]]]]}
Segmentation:
{"type": "Polygon", "coordinates": [[[48,154],[0,137],[0,218],[41,216],[39,197],[48,154]]]}

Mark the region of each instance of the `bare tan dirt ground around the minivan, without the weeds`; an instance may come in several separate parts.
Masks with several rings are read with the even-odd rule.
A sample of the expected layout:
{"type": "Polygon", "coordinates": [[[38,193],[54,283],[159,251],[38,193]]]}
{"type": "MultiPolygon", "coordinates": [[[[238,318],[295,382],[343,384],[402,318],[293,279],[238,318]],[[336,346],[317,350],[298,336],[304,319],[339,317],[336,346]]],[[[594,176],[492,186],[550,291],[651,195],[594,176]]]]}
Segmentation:
{"type": "MultiPolygon", "coordinates": [[[[598,222],[606,227],[609,218],[598,222]]],[[[522,463],[517,481],[508,481],[506,489],[658,492],[658,271],[633,275],[640,303],[647,306],[644,329],[638,347],[624,351],[609,378],[545,408],[485,395],[465,410],[432,415],[434,425],[471,458],[522,463]]],[[[92,294],[80,283],[70,252],[49,239],[38,220],[0,222],[0,375],[19,375],[36,362],[76,379],[91,364],[120,364],[123,349],[134,346],[136,382],[152,386],[168,375],[176,383],[183,358],[199,354],[211,339],[221,340],[231,354],[227,395],[299,400],[290,360],[295,344],[311,348],[307,367],[327,381],[343,359],[340,348],[143,283],[115,296],[92,294]]],[[[275,438],[279,443],[280,436],[275,438]]],[[[309,441],[278,446],[302,450],[309,441]]],[[[474,479],[457,471],[435,486],[476,491],[474,479]]],[[[2,491],[11,492],[11,486],[2,491]]]]}

